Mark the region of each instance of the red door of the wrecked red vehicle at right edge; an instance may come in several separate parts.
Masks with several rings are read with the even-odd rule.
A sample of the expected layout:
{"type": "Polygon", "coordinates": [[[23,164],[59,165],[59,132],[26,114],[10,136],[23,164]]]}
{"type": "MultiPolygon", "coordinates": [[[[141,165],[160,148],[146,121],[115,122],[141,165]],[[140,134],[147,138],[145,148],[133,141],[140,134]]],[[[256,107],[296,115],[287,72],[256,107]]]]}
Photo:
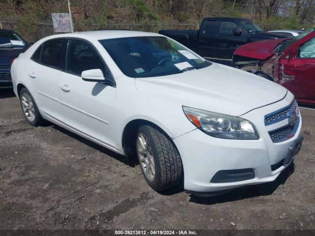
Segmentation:
{"type": "Polygon", "coordinates": [[[315,103],[315,37],[290,51],[282,60],[282,85],[304,102],[315,103]]]}

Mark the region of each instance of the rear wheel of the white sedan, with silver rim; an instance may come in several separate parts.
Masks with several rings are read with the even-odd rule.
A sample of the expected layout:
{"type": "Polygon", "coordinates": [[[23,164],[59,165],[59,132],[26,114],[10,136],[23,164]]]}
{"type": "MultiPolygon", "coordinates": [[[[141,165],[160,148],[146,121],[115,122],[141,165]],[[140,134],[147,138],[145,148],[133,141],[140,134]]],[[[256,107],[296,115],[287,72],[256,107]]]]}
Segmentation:
{"type": "Polygon", "coordinates": [[[36,103],[28,89],[21,89],[20,102],[24,117],[32,126],[38,126],[43,123],[44,119],[41,117],[36,103]]]}

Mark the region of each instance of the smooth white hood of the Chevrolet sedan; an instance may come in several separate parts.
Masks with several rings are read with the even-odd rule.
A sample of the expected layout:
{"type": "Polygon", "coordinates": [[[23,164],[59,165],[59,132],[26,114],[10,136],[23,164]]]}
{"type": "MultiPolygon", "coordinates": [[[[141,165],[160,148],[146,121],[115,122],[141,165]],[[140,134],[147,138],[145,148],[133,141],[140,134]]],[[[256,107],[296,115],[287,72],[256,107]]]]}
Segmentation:
{"type": "Polygon", "coordinates": [[[276,83],[218,63],[175,75],[137,78],[135,85],[166,101],[231,116],[282,100],[287,92],[276,83]]]}

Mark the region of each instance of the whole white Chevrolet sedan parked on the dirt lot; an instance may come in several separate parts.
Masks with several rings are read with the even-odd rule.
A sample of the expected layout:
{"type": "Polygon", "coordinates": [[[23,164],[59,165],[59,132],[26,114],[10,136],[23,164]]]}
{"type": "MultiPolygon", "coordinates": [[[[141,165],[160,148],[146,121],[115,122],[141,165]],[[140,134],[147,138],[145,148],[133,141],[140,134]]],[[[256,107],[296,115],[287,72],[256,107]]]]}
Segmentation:
{"type": "Polygon", "coordinates": [[[46,37],[14,60],[12,81],[31,125],[137,155],[156,191],[183,178],[204,196],[273,181],[302,144],[291,92],[156,33],[46,37]]]}

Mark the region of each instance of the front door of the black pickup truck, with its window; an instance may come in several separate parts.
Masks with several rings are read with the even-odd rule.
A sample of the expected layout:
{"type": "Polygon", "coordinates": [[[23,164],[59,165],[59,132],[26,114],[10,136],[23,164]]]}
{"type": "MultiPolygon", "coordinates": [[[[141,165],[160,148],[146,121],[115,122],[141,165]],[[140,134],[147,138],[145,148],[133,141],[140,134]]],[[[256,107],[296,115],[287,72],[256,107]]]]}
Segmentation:
{"type": "Polygon", "coordinates": [[[241,29],[239,23],[230,20],[221,20],[214,43],[215,55],[218,58],[232,59],[234,51],[247,42],[244,29],[240,34],[233,34],[233,29],[241,29]]]}

